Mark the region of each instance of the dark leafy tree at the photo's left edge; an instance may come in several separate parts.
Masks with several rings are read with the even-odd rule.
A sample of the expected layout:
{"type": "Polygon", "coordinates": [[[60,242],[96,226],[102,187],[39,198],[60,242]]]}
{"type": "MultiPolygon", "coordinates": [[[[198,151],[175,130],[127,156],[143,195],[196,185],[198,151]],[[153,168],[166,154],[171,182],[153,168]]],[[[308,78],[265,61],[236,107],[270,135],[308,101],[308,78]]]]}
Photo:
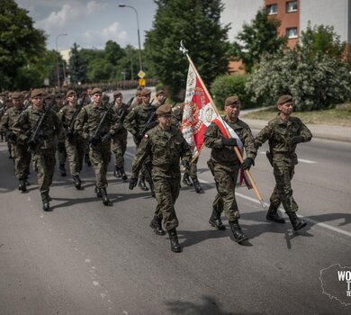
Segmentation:
{"type": "Polygon", "coordinates": [[[33,27],[28,11],[14,0],[0,0],[0,85],[22,89],[18,76],[45,53],[44,32],[33,27]]]}

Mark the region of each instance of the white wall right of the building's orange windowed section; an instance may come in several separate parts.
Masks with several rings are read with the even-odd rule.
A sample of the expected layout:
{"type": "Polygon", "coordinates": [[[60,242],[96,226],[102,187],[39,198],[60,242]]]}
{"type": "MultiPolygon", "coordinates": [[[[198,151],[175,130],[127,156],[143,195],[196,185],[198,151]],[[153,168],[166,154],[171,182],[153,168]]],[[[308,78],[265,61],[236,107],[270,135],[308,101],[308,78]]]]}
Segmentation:
{"type": "Polygon", "coordinates": [[[316,24],[333,26],[340,40],[351,43],[350,4],[351,0],[301,0],[301,31],[306,29],[310,20],[312,27],[316,24]]]}

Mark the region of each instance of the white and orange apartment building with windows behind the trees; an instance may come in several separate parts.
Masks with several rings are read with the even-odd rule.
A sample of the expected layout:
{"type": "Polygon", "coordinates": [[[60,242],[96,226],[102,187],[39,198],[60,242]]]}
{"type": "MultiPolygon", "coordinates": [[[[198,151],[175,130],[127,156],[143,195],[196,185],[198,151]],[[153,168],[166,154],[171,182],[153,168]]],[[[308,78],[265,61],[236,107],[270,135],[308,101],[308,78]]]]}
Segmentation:
{"type": "Polygon", "coordinates": [[[351,0],[222,0],[225,9],[221,22],[230,23],[229,40],[234,41],[244,22],[250,23],[257,11],[265,7],[268,14],[281,21],[280,36],[287,36],[289,47],[311,25],[329,25],[340,40],[351,44],[351,0]]]}

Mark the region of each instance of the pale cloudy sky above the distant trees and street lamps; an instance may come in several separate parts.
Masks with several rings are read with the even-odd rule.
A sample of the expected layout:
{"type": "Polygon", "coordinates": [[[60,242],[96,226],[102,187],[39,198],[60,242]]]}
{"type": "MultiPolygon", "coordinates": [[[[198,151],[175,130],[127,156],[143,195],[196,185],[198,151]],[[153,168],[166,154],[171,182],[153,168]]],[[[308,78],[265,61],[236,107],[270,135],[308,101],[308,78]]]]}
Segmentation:
{"type": "Polygon", "coordinates": [[[85,49],[103,49],[107,40],[138,48],[137,15],[141,47],[145,31],[152,28],[157,6],[153,0],[14,0],[29,11],[34,27],[48,35],[47,49],[70,49],[76,44],[85,49]],[[67,36],[59,36],[67,34],[67,36]]]}

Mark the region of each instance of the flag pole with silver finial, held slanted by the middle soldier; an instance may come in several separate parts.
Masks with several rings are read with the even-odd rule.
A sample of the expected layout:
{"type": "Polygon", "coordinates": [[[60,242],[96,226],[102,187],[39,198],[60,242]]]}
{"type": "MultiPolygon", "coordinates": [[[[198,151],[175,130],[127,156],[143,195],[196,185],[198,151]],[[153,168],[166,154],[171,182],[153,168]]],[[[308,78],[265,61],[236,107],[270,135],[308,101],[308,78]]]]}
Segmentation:
{"type": "MultiPolygon", "coordinates": [[[[188,50],[185,49],[185,47],[184,47],[183,40],[180,41],[180,48],[179,49],[185,54],[186,58],[188,58],[188,61],[191,64],[191,66],[193,67],[193,71],[195,72],[196,76],[199,78],[199,81],[202,84],[202,86],[204,88],[204,92],[207,95],[207,97],[209,98],[214,111],[216,112],[216,114],[218,116],[220,116],[220,112],[218,112],[218,109],[217,109],[215,103],[212,100],[211,94],[209,93],[209,91],[207,91],[207,87],[206,87],[206,85],[203,84],[202,78],[199,75],[199,73],[197,72],[197,69],[196,69],[196,67],[193,64],[192,58],[190,58],[189,55],[188,55],[188,50]]],[[[227,136],[230,138],[230,133],[229,133],[229,130],[227,129],[227,126],[224,125],[224,128],[226,130],[227,136]]],[[[238,149],[237,146],[234,146],[233,148],[234,148],[235,154],[238,157],[239,162],[242,163],[244,161],[244,159],[241,156],[240,150],[238,149]]],[[[248,169],[245,169],[244,172],[245,172],[245,175],[247,175],[247,178],[249,179],[249,181],[250,181],[250,183],[252,185],[252,188],[253,188],[256,196],[257,196],[258,201],[261,203],[262,208],[265,209],[266,208],[266,204],[265,204],[265,202],[264,202],[264,200],[262,198],[261,193],[259,192],[259,190],[257,188],[257,184],[255,183],[254,178],[252,177],[252,175],[250,174],[248,169]]]]}

